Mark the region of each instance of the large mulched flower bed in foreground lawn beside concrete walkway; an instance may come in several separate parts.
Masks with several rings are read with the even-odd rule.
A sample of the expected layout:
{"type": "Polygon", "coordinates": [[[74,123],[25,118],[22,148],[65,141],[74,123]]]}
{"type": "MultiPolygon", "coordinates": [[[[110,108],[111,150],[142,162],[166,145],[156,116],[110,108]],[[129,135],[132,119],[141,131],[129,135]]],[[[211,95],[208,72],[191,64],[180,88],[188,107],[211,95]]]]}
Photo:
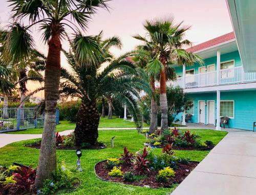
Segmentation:
{"type": "Polygon", "coordinates": [[[121,158],[109,158],[95,165],[97,177],[105,181],[151,188],[181,183],[198,162],[174,156],[171,145],[155,155],[151,147],[135,155],[124,148],[121,158]]]}

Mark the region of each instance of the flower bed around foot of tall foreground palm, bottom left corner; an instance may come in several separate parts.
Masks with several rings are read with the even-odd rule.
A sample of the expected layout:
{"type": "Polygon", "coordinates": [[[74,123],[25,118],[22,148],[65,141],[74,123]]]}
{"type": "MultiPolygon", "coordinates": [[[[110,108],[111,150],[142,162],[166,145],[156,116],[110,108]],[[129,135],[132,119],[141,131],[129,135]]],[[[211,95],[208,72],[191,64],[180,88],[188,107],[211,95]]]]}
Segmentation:
{"type": "Polygon", "coordinates": [[[53,180],[46,180],[41,189],[34,187],[36,168],[32,166],[0,166],[0,194],[40,194],[55,193],[59,189],[72,189],[80,186],[80,180],[65,168],[58,167],[52,173],[53,180]]]}

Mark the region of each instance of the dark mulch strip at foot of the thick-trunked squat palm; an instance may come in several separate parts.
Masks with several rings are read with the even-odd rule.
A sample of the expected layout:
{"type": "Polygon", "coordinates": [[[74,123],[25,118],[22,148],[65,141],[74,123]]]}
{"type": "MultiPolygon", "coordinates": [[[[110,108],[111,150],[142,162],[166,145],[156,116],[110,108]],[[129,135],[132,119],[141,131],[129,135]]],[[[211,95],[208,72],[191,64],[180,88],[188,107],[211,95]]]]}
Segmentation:
{"type": "MultiPolygon", "coordinates": [[[[30,144],[26,144],[24,145],[25,147],[30,147],[30,148],[35,148],[35,149],[40,149],[41,146],[41,142],[34,142],[34,143],[30,143],[30,144]]],[[[88,150],[100,150],[100,149],[104,149],[106,148],[106,145],[104,143],[96,143],[95,145],[90,145],[90,147],[88,148],[84,148],[84,149],[88,149],[88,150]]],[[[81,147],[66,147],[65,145],[58,145],[57,150],[78,150],[81,149],[81,147]]]]}

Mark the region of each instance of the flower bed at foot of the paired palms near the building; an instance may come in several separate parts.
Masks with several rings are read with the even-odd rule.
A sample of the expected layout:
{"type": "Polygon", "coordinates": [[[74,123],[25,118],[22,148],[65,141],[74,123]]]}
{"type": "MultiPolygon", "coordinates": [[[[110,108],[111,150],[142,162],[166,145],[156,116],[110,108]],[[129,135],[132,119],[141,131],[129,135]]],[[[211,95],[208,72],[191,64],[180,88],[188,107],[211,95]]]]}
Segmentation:
{"type": "MultiPolygon", "coordinates": [[[[146,134],[146,131],[142,131],[146,134]]],[[[181,132],[178,128],[168,129],[161,132],[157,130],[148,136],[149,140],[145,143],[147,146],[163,148],[167,143],[173,145],[174,150],[211,150],[215,145],[206,140],[202,142],[199,136],[190,131],[181,132]]]]}

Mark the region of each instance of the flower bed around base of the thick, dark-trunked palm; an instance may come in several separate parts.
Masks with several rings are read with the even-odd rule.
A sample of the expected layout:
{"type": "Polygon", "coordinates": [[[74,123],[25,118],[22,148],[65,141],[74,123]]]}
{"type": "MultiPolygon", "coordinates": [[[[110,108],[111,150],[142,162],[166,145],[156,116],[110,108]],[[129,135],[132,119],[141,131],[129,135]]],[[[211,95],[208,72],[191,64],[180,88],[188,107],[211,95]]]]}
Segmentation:
{"type": "MultiPolygon", "coordinates": [[[[26,144],[25,147],[40,149],[41,141],[26,144]]],[[[59,135],[56,133],[56,148],[57,150],[77,150],[77,149],[91,149],[100,150],[106,148],[106,145],[101,142],[96,142],[94,145],[90,143],[82,143],[80,146],[75,145],[74,133],[69,135],[59,135]]]]}

